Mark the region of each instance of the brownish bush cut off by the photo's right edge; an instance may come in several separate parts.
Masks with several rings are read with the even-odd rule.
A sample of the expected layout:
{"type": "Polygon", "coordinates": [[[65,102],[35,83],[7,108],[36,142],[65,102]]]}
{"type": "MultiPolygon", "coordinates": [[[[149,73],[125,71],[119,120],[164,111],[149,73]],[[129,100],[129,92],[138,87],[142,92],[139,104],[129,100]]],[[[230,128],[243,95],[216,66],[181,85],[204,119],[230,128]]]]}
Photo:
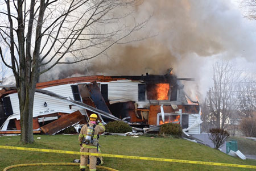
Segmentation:
{"type": "Polygon", "coordinates": [[[239,127],[245,136],[256,137],[256,118],[243,118],[239,127]]]}

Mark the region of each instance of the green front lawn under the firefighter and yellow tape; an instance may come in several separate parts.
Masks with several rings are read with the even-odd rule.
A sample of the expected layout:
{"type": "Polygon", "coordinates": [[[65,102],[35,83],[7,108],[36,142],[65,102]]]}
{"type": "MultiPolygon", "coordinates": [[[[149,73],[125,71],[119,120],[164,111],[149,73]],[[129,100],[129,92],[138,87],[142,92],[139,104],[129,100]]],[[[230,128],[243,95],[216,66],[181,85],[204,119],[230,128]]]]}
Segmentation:
{"type": "MultiPolygon", "coordinates": [[[[66,151],[79,151],[80,149],[77,135],[34,135],[35,143],[26,145],[21,144],[19,139],[19,136],[0,137],[0,145],[60,149],[66,151]],[[37,139],[37,137],[41,137],[41,139],[37,139]]],[[[256,160],[241,160],[204,145],[170,137],[151,138],[140,136],[134,138],[129,136],[101,136],[100,144],[102,153],[115,155],[256,165],[256,160]]],[[[0,170],[13,164],[72,162],[73,159],[79,159],[79,157],[79,155],[0,149],[0,170]]],[[[223,166],[117,159],[110,157],[104,157],[104,166],[118,170],[246,170],[243,168],[223,166]]],[[[79,170],[79,166],[29,166],[11,170],[79,170]]]]}

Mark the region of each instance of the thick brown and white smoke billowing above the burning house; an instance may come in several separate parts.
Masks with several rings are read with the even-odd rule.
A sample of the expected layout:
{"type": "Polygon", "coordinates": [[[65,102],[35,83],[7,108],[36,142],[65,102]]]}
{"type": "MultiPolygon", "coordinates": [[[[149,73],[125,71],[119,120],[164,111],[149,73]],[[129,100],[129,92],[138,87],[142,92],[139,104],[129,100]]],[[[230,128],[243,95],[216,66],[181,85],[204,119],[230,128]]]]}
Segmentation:
{"type": "Polygon", "coordinates": [[[174,68],[178,77],[196,79],[185,83],[188,93],[195,96],[198,92],[205,94],[214,59],[254,60],[253,28],[230,1],[146,0],[134,14],[138,22],[150,15],[147,27],[133,36],[155,36],[115,45],[108,56],[86,65],[64,66],[65,70],[59,66],[56,69],[60,74],[54,72],[54,77],[47,77],[164,74],[168,68],[174,68]]]}

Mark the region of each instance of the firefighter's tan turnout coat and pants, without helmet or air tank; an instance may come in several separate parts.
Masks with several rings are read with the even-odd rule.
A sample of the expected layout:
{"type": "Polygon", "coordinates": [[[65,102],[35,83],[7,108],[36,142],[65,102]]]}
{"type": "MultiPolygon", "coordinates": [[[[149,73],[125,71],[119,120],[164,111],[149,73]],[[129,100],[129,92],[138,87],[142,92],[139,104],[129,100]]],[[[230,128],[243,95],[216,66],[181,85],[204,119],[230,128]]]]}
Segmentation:
{"type": "MultiPolygon", "coordinates": [[[[89,122],[89,126],[93,127],[94,124],[89,122]]],[[[86,136],[86,131],[87,131],[87,124],[85,124],[79,134],[79,144],[82,144],[82,147],[80,149],[80,152],[89,152],[89,153],[97,153],[98,150],[98,134],[100,132],[104,132],[105,131],[105,127],[103,126],[102,123],[98,123],[95,127],[94,127],[94,134],[92,136],[93,139],[93,144],[89,143],[89,144],[84,144],[82,143],[82,140],[84,139],[84,137],[86,136]]],[[[90,171],[96,170],[96,156],[89,156],[90,159],[90,166],[89,169],[90,171]]],[[[88,163],[88,156],[84,156],[81,155],[80,157],[80,168],[86,168],[86,165],[88,163]]]]}

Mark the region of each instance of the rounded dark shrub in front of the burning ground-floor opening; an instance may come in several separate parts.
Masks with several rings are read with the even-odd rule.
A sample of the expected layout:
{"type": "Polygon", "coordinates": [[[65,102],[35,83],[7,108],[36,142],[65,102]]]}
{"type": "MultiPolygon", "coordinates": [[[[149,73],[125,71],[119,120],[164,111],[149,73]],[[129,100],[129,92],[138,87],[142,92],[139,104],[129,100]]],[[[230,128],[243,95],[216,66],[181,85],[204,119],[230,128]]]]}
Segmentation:
{"type": "Polygon", "coordinates": [[[160,134],[181,137],[182,133],[180,124],[166,123],[160,126],[160,134]]]}

